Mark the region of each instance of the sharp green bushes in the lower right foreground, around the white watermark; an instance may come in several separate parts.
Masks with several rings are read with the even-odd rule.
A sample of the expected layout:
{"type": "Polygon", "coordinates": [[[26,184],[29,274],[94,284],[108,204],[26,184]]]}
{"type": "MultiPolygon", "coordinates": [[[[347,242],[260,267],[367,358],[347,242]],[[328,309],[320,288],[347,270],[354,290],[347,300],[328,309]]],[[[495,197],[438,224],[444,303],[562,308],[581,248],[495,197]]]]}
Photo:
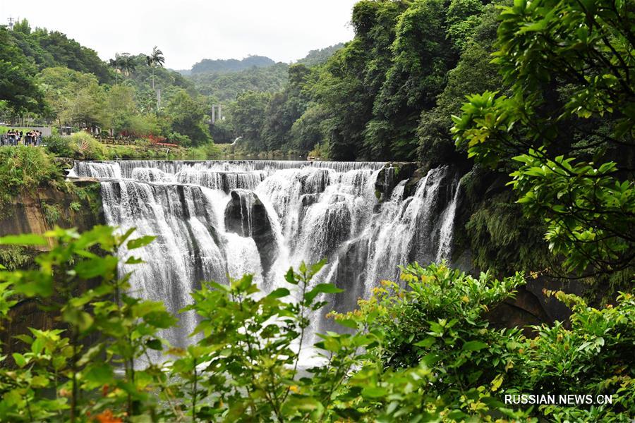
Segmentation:
{"type": "Polygon", "coordinates": [[[536,337],[526,338],[519,329],[496,329],[487,319],[523,283],[518,274],[497,281],[444,264],[425,269],[414,264],[401,278],[408,289],[383,281],[373,298],[361,302],[361,312],[379,315],[370,331],[384,334],[382,362],[430,367],[436,377],[426,394],[448,408],[441,413],[447,418],[627,422],[635,412],[634,358],[627,353],[635,341],[633,295],[595,309],[575,295],[555,293],[574,312],[571,329],[560,322],[533,326],[536,337]],[[505,395],[564,392],[612,396],[613,403],[535,408],[502,403],[505,395]]]}

